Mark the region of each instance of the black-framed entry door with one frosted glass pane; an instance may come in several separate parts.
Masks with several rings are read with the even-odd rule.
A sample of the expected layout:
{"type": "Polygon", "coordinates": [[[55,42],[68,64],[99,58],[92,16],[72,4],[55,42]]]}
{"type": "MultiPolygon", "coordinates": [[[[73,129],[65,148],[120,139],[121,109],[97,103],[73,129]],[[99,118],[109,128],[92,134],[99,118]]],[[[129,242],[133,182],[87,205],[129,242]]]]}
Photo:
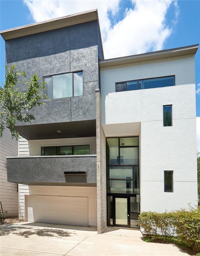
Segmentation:
{"type": "Polygon", "coordinates": [[[129,204],[128,197],[114,197],[114,226],[129,226],[129,204]]]}

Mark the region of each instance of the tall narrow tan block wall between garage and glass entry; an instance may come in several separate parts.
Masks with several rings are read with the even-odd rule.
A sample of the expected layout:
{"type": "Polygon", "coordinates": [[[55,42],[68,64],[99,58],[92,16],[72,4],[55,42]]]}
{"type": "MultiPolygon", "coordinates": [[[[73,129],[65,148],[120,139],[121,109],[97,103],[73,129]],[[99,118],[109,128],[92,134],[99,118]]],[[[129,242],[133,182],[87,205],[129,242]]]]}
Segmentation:
{"type": "Polygon", "coordinates": [[[106,137],[101,125],[101,95],[96,89],[96,142],[97,142],[97,230],[107,227],[106,212],[106,137]]]}

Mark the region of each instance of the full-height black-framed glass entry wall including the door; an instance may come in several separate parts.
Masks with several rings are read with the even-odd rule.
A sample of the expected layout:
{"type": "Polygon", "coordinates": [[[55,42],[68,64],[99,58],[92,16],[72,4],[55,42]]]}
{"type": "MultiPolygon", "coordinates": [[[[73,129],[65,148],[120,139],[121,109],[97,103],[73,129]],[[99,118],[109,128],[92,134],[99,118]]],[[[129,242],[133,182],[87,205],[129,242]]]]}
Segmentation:
{"type": "Polygon", "coordinates": [[[107,225],[138,228],[139,137],[106,139],[107,225]]]}

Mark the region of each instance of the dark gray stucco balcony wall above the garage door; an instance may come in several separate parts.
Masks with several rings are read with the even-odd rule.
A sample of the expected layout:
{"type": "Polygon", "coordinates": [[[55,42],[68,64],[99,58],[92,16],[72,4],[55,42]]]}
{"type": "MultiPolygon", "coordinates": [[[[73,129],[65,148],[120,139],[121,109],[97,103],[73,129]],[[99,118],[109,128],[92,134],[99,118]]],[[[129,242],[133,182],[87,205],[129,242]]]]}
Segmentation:
{"type": "Polygon", "coordinates": [[[7,158],[7,170],[8,181],[21,184],[65,183],[64,171],[87,171],[87,183],[96,183],[96,156],[7,158]]]}

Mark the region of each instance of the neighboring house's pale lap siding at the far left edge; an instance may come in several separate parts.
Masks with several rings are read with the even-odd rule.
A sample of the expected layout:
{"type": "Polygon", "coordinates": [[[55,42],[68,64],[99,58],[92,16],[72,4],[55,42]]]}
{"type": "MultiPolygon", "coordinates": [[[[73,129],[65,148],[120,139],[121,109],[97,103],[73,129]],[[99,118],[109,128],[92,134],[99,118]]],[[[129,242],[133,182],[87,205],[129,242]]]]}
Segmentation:
{"type": "Polygon", "coordinates": [[[0,138],[0,201],[4,216],[18,216],[17,184],[7,182],[6,157],[18,155],[18,142],[11,137],[10,130],[5,128],[0,138]]]}

